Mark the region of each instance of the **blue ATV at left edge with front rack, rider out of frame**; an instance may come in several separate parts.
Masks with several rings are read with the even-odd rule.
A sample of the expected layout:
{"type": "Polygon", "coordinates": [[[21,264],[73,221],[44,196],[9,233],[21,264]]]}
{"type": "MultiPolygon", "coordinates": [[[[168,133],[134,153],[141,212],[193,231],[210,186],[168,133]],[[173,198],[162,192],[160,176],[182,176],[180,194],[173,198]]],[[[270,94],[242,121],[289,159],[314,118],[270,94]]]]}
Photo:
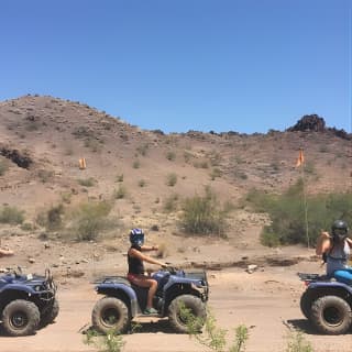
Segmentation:
{"type": "Polygon", "coordinates": [[[44,276],[9,270],[0,276],[0,323],[8,336],[35,333],[58,315],[56,285],[50,271],[44,276]]]}

